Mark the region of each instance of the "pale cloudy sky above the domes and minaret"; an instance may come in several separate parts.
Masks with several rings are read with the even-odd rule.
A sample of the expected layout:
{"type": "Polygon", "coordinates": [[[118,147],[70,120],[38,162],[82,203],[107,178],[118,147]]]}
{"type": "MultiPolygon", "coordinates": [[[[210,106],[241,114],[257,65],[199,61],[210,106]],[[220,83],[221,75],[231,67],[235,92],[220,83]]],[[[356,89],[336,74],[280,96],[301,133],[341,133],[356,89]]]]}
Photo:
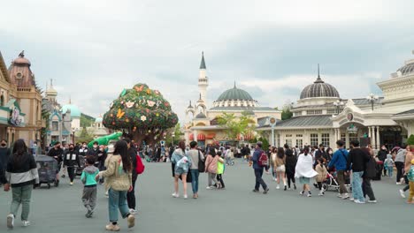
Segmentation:
{"type": "Polygon", "coordinates": [[[183,120],[202,51],[210,107],[234,81],[261,106],[295,102],[318,64],[342,98],[381,95],[376,83],[414,58],[406,0],[13,0],[0,9],[6,65],[24,49],[38,85],[53,79],[60,103],[91,116],[146,83],[183,120]]]}

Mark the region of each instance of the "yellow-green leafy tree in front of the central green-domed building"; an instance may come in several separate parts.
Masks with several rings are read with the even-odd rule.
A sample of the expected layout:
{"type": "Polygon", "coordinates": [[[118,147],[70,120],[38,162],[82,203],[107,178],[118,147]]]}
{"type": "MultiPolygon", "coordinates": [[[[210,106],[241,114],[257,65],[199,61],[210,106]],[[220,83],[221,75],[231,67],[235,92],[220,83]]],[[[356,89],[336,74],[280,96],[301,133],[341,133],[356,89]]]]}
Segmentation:
{"type": "Polygon", "coordinates": [[[245,113],[237,117],[233,113],[223,113],[218,116],[218,123],[225,128],[226,137],[228,139],[237,139],[238,135],[251,134],[254,126],[250,125],[251,117],[245,113]]]}

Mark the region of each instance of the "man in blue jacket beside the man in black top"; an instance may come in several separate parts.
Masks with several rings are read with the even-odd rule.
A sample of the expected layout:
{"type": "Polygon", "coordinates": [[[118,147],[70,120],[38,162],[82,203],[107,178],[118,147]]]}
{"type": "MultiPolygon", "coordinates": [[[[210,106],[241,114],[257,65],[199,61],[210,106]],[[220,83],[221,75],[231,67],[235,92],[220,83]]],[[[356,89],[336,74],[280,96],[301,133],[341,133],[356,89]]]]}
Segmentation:
{"type": "Polygon", "coordinates": [[[345,172],[348,170],[348,151],[344,149],[344,142],[342,140],[336,141],[336,147],[338,150],[335,151],[331,162],[328,164],[328,169],[335,168],[338,176],[338,183],[340,185],[340,193],[338,198],[349,199],[347,187],[345,187],[345,172]]]}

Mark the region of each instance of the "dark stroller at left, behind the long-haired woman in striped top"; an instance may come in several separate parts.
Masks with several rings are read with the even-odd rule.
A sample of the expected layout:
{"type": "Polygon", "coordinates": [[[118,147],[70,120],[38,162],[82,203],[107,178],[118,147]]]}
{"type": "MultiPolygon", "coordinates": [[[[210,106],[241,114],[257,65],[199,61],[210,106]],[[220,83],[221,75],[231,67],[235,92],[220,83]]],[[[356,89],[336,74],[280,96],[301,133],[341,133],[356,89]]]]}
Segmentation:
{"type": "Polygon", "coordinates": [[[54,184],[55,187],[58,187],[59,183],[56,179],[56,172],[58,170],[58,162],[46,155],[37,155],[37,173],[39,173],[39,187],[42,184],[48,184],[50,189],[50,184],[54,184]]]}

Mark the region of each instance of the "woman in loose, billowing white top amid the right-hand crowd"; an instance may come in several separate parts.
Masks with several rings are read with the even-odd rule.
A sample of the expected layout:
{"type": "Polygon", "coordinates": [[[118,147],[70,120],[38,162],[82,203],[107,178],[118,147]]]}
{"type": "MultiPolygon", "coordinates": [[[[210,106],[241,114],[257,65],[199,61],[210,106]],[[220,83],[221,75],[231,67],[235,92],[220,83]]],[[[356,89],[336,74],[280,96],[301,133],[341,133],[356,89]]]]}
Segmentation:
{"type": "Polygon", "coordinates": [[[299,182],[303,184],[303,191],[300,192],[301,195],[303,195],[304,192],[308,192],[308,197],[312,196],[310,185],[311,177],[317,175],[318,172],[313,169],[313,159],[309,152],[309,147],[305,147],[303,149],[303,154],[299,154],[295,168],[295,177],[298,177],[299,182]]]}

